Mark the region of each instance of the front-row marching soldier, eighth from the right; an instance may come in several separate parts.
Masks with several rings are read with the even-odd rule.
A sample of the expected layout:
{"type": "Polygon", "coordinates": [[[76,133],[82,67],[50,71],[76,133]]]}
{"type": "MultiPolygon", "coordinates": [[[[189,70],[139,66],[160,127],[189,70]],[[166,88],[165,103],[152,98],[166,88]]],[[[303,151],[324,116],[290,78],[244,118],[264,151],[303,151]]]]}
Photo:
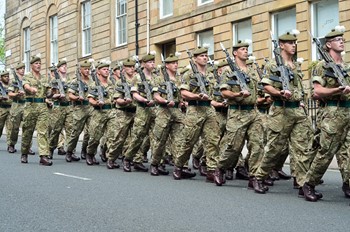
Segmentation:
{"type": "MultiPolygon", "coordinates": [[[[95,158],[100,139],[106,133],[113,136],[116,127],[116,115],[113,108],[113,95],[115,87],[108,79],[109,64],[107,61],[100,61],[96,66],[95,82],[89,86],[91,89],[88,95],[89,102],[94,108],[91,113],[89,124],[89,142],[87,146],[86,164],[98,165],[95,158]],[[99,84],[98,84],[99,82],[99,84]]],[[[94,70],[93,75],[94,75],[94,70]]],[[[93,76],[94,78],[94,76],[93,76]]],[[[115,168],[119,166],[116,164],[115,168]]]]}

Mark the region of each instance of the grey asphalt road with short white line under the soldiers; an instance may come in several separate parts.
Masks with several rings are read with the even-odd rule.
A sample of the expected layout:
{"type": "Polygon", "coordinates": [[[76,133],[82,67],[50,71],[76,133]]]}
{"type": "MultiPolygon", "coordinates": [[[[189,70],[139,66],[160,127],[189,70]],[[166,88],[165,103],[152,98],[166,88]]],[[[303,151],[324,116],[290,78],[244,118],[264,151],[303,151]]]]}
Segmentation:
{"type": "MultiPolygon", "coordinates": [[[[0,139],[0,231],[348,231],[349,199],[336,170],[327,171],[316,203],[297,197],[292,181],[277,181],[265,195],[247,181],[216,187],[204,177],[107,170],[105,165],[28,164],[0,139]]],[[[18,148],[18,146],[17,146],[18,148]]],[[[37,151],[34,143],[34,150],[37,151]]],[[[79,149],[78,149],[79,150],[79,149]]],[[[169,168],[172,170],[172,168],[169,168]]],[[[289,167],[285,170],[288,172],[289,167]]]]}

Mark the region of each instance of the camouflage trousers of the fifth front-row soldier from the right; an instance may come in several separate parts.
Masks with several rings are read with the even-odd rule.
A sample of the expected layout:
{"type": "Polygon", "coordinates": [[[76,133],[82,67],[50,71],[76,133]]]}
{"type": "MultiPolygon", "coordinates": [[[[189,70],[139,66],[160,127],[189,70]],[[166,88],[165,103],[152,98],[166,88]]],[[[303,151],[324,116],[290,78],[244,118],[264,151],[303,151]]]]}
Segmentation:
{"type": "Polygon", "coordinates": [[[159,107],[154,128],[152,130],[152,165],[159,165],[165,155],[166,145],[170,154],[177,154],[177,144],[180,144],[179,134],[184,127],[184,114],[178,108],[159,107]],[[168,138],[169,143],[167,144],[168,138]]]}

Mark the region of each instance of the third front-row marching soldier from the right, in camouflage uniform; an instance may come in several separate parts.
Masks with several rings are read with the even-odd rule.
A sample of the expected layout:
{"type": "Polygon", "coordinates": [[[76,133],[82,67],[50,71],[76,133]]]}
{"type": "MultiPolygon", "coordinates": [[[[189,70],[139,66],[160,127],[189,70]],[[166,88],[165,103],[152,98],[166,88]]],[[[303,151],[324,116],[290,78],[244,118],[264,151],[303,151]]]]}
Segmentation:
{"type": "MultiPolygon", "coordinates": [[[[217,173],[219,178],[216,185],[223,184],[224,171],[232,164],[236,166],[245,140],[250,153],[248,159],[249,175],[252,179],[263,154],[263,123],[256,109],[259,101],[257,93],[257,77],[253,68],[246,65],[248,60],[248,43],[238,41],[232,48],[238,72],[244,80],[246,87],[238,85],[235,78],[232,78],[231,71],[225,73],[225,80],[220,86],[222,96],[227,99],[229,112],[226,124],[226,133],[220,144],[220,159],[218,161],[217,173]],[[221,182],[220,182],[221,180],[221,182]]],[[[251,181],[250,181],[251,182],[251,181]]],[[[249,185],[250,186],[250,185],[249,185]]]]}

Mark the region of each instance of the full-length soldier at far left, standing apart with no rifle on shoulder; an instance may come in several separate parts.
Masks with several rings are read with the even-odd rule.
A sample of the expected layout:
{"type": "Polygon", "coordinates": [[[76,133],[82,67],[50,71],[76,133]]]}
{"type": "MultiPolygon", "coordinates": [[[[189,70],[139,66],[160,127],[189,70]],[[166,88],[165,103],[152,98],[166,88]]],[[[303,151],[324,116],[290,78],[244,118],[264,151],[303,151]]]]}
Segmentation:
{"type": "Polygon", "coordinates": [[[47,138],[49,110],[46,104],[51,104],[48,98],[51,98],[53,94],[47,78],[40,74],[41,58],[39,56],[32,57],[30,65],[32,71],[23,77],[26,104],[23,112],[21,162],[28,163],[28,153],[36,129],[40,164],[51,166],[52,162],[48,160],[50,153],[47,138]]]}

